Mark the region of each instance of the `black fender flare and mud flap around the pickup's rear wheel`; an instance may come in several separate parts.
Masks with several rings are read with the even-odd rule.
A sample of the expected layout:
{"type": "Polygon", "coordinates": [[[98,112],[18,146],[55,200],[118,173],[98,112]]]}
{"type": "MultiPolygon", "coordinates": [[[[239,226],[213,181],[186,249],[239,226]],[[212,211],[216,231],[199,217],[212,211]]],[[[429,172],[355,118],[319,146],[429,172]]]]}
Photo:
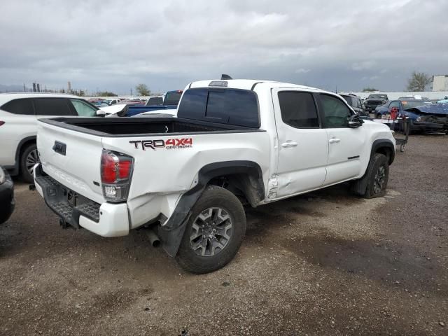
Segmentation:
{"type": "Polygon", "coordinates": [[[256,177],[259,193],[265,193],[265,186],[262,183],[262,171],[260,166],[253,161],[224,161],[214,162],[202,167],[197,174],[197,185],[184,193],[179,200],[176,209],[167,223],[158,226],[158,236],[162,241],[162,246],[168,255],[174,257],[179,250],[186,224],[190,219],[191,209],[202,195],[211,179],[229,174],[249,174],[256,177]]]}

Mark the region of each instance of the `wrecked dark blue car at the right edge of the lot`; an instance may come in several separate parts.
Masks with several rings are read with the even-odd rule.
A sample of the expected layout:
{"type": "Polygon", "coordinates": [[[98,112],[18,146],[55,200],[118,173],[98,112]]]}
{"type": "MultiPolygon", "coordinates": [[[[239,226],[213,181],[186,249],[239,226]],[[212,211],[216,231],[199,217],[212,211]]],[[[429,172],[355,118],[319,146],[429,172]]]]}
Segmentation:
{"type": "Polygon", "coordinates": [[[448,104],[428,104],[424,100],[393,100],[377,107],[375,118],[388,118],[392,109],[398,109],[398,117],[410,120],[410,130],[419,132],[443,132],[448,134],[448,104]]]}

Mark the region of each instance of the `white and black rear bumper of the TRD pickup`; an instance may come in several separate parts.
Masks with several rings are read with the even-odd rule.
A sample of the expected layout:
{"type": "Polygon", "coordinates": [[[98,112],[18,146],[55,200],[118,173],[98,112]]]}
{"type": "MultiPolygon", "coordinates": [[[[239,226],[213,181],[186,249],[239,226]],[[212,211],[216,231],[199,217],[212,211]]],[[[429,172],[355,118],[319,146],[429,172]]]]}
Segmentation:
{"type": "Polygon", "coordinates": [[[69,202],[69,195],[73,195],[73,191],[42,172],[41,165],[34,167],[34,183],[45,204],[59,216],[63,226],[82,227],[102,237],[129,234],[125,203],[98,204],[79,195],[80,200],[73,205],[69,202]]]}

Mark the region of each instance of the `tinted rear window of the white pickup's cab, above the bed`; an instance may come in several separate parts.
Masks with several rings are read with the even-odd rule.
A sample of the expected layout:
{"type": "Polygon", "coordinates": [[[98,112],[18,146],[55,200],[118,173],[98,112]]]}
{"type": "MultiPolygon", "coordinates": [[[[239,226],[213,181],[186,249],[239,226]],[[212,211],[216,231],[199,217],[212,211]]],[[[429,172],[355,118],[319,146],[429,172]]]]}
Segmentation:
{"type": "Polygon", "coordinates": [[[188,89],[183,94],[177,116],[212,123],[260,127],[257,95],[249,90],[188,89]]]}

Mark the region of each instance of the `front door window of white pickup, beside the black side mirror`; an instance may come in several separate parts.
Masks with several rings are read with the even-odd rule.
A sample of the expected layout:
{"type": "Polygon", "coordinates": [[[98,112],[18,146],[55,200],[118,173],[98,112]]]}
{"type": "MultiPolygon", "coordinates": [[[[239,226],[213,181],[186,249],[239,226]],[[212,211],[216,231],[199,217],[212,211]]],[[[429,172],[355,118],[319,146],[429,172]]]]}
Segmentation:
{"type": "Polygon", "coordinates": [[[349,127],[349,117],[353,112],[342,100],[330,94],[318,94],[317,97],[325,127],[349,127]]]}

